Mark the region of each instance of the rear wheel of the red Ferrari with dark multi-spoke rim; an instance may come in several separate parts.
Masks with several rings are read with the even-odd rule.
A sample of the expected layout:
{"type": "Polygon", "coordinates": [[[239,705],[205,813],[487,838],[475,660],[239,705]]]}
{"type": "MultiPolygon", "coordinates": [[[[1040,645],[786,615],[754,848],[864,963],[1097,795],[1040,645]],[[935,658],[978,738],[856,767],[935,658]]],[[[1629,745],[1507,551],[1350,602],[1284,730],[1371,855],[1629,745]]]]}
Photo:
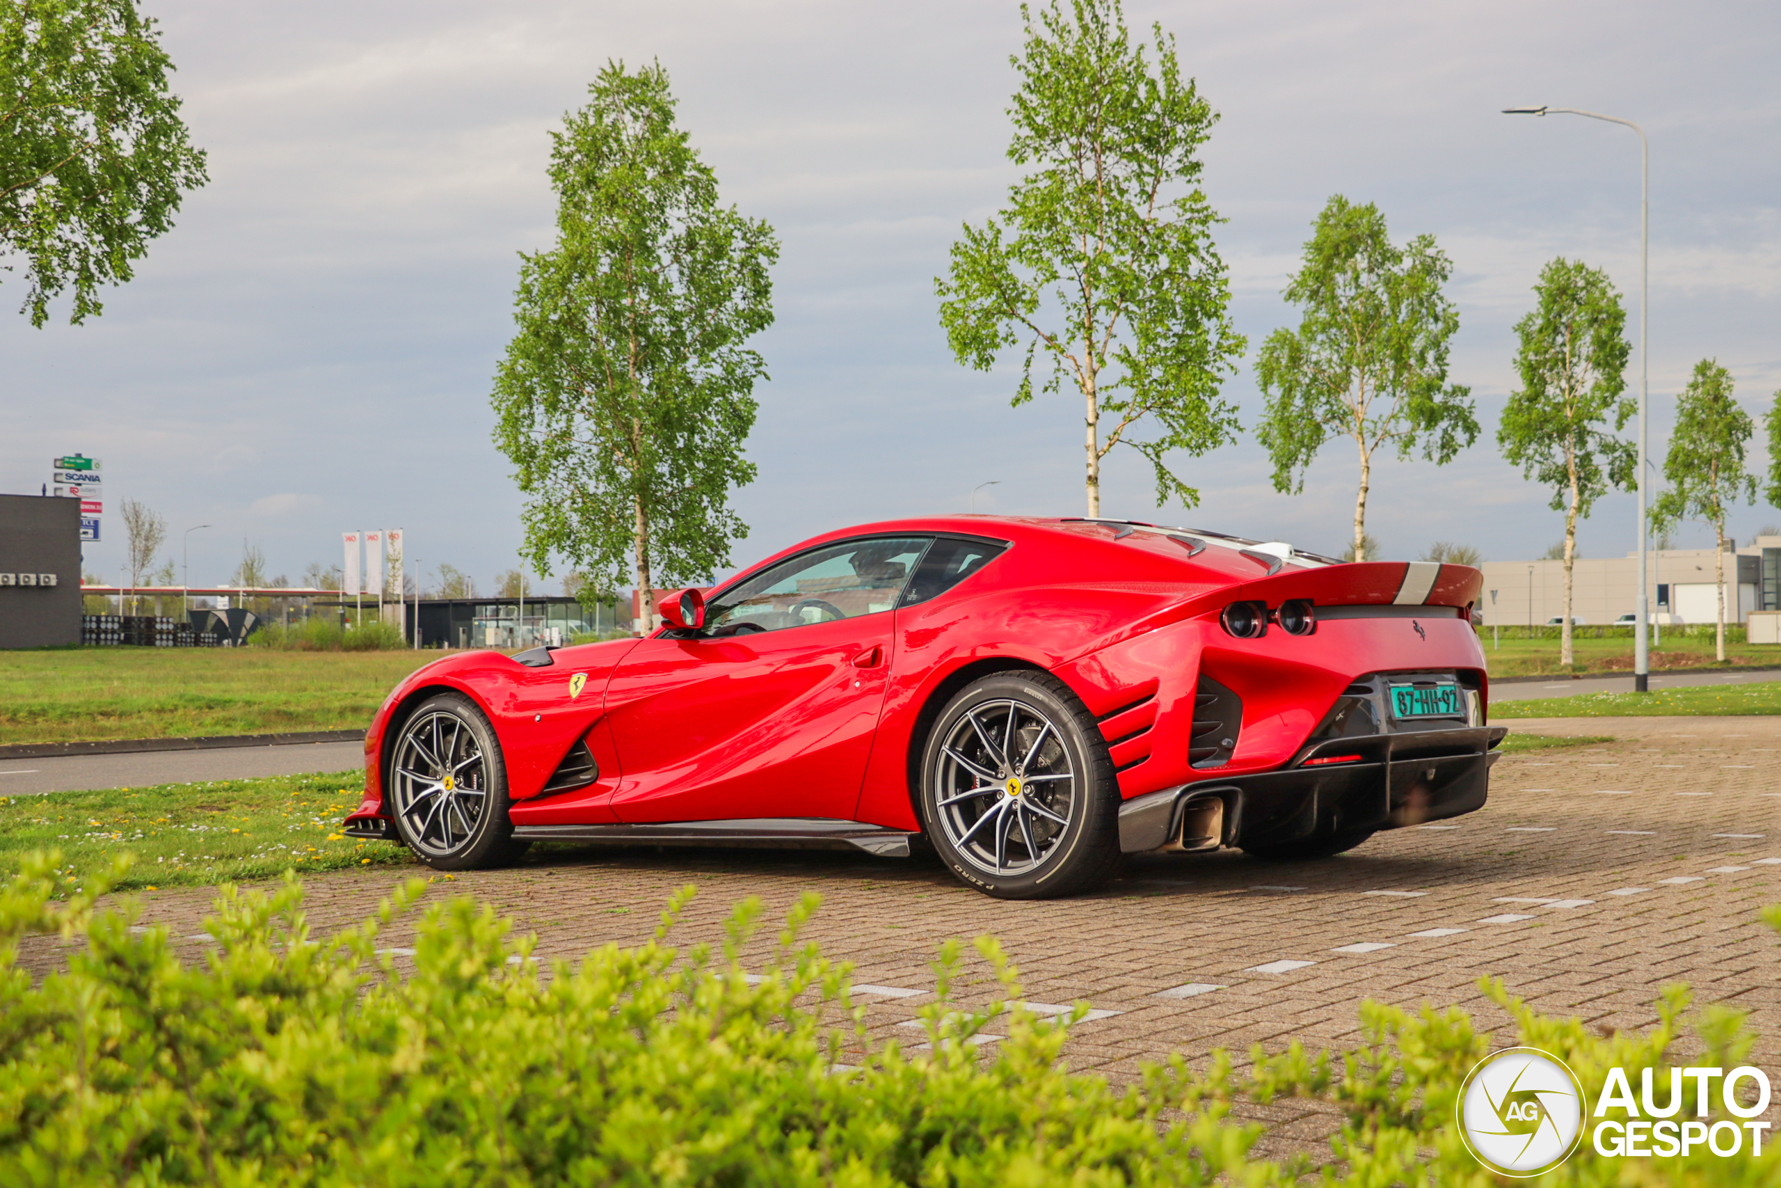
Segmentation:
{"type": "Polygon", "coordinates": [[[1047,673],[996,673],[947,702],[923,743],[917,803],[940,862],[999,899],[1088,891],[1120,862],[1106,741],[1047,673]]]}

